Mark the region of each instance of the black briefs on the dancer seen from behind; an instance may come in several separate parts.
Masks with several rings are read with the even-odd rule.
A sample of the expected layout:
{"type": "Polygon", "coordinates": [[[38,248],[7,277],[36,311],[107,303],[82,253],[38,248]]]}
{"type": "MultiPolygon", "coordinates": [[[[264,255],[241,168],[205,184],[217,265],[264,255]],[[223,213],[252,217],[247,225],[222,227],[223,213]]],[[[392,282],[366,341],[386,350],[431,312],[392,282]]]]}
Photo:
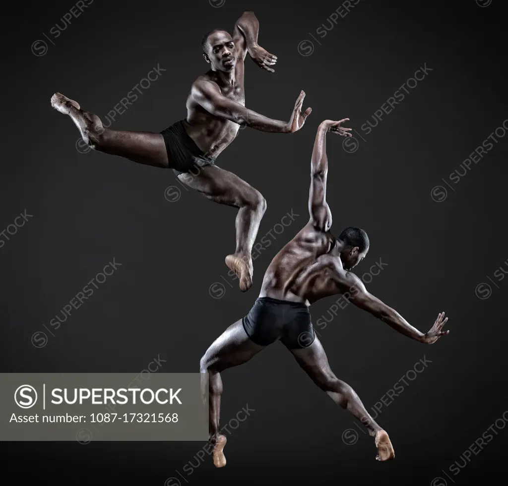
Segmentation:
{"type": "Polygon", "coordinates": [[[309,309],[298,302],[261,297],[242,319],[242,324],[247,336],[260,346],[280,339],[288,349],[297,349],[314,342],[309,309]]]}

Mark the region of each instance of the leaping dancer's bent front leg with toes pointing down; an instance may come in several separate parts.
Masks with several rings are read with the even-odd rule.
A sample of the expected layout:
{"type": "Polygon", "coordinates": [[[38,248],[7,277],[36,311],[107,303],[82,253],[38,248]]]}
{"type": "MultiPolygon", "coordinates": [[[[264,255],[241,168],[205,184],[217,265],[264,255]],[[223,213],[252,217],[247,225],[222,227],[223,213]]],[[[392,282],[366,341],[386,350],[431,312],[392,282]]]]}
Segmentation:
{"type": "Polygon", "coordinates": [[[196,174],[180,174],[178,178],[208,199],[238,208],[236,250],[226,257],[226,265],[238,276],[240,290],[248,290],[252,286],[252,245],[266,211],[265,198],[237,175],[217,166],[197,168],[196,174]]]}

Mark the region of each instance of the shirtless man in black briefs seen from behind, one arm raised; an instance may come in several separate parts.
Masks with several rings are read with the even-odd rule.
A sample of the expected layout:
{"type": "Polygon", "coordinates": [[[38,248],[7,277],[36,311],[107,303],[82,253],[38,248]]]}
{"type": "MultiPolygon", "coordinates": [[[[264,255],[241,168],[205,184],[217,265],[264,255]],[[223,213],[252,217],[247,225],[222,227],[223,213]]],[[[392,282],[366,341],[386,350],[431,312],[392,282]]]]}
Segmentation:
{"type": "MultiPolygon", "coordinates": [[[[310,168],[310,219],[302,230],[273,258],[261,293],[250,312],[230,326],[208,348],[201,359],[201,373],[208,374],[210,442],[213,463],[226,465],[223,448],[226,437],[219,433],[220,372],[249,361],[269,344],[280,339],[312,381],[342,408],[350,411],[374,437],[378,461],[393,459],[395,453],[388,434],[363,406],[353,388],[339,380],[330,369],[326,353],[315,336],[308,307],[324,297],[344,294],[401,334],[426,344],[435,343],[449,331],[441,331],[448,317],[439,313],[427,333],[421,333],[394,309],[369,294],[363,282],[351,272],[369,250],[365,231],[346,228],[338,238],[330,233],[332,213],[326,202],[328,159],[326,134],[351,136],[348,120],[325,120],[314,142],[310,168]]],[[[206,379],[203,386],[206,392],[206,379]]]]}

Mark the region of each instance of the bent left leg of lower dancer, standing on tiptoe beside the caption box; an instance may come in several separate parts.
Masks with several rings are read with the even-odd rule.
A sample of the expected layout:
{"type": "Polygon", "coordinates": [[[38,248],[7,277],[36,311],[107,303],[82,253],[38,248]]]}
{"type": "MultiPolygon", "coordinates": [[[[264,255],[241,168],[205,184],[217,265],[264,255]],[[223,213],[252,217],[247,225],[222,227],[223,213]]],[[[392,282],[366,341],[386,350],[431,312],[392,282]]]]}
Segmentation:
{"type": "Polygon", "coordinates": [[[264,348],[249,339],[240,319],[226,329],[201,358],[200,371],[208,373],[210,441],[214,444],[213,464],[216,467],[226,466],[223,453],[226,437],[219,433],[220,396],[223,392],[220,372],[246,363],[264,348]]]}

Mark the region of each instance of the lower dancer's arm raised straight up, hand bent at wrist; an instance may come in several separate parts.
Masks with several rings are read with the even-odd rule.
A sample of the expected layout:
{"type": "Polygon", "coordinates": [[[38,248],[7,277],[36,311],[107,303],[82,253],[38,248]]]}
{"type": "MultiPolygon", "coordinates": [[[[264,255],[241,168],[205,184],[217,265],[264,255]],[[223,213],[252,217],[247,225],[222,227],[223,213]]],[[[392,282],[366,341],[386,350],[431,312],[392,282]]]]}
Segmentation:
{"type": "Polygon", "coordinates": [[[336,133],[351,137],[351,128],[344,128],[340,121],[325,120],[317,129],[310,163],[309,214],[310,223],[316,230],[329,231],[332,226],[332,212],[326,202],[326,180],[328,176],[328,157],[326,155],[326,134],[336,133]]]}

